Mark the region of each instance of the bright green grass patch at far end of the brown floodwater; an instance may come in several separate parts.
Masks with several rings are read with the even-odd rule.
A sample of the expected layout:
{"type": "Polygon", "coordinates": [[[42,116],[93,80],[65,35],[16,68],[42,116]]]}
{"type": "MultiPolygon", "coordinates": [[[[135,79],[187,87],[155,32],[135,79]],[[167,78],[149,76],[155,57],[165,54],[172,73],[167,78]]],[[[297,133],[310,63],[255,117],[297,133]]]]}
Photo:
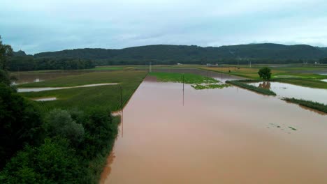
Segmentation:
{"type": "Polygon", "coordinates": [[[194,89],[222,89],[228,87],[228,84],[219,83],[217,79],[212,77],[204,77],[191,73],[177,73],[177,72],[151,72],[151,76],[157,77],[159,82],[184,82],[185,84],[192,84],[194,89]]]}

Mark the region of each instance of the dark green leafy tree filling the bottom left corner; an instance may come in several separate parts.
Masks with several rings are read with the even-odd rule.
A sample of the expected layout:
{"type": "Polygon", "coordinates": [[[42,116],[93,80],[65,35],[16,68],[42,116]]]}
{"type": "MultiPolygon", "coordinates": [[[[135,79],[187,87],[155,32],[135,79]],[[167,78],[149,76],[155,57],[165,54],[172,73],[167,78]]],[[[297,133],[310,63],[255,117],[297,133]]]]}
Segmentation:
{"type": "Polygon", "coordinates": [[[66,139],[47,138],[18,152],[1,171],[0,183],[85,183],[83,164],[66,139]]]}

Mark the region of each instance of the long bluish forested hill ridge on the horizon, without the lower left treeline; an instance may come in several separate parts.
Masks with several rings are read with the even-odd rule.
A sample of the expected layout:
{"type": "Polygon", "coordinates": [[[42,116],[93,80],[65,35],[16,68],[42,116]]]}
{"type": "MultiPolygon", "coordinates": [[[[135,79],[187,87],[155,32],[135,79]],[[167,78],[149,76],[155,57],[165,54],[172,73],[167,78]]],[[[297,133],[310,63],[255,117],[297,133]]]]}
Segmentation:
{"type": "MultiPolygon", "coordinates": [[[[43,52],[35,58],[59,57],[106,61],[142,63],[142,61],[173,62],[219,62],[237,60],[298,61],[319,60],[327,57],[327,49],[310,45],[249,44],[221,47],[198,47],[186,45],[148,45],[126,49],[67,49],[59,52],[43,52]]],[[[123,63],[124,63],[123,62],[123,63]]]]}

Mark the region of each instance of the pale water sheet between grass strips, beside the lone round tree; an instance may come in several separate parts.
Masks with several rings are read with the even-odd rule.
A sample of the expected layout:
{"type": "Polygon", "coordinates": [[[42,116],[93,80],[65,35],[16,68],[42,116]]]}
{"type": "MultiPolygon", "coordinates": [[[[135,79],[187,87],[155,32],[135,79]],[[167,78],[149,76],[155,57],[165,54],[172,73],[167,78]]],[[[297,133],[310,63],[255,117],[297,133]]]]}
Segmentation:
{"type": "Polygon", "coordinates": [[[270,89],[279,97],[298,98],[327,104],[327,89],[313,89],[281,82],[255,82],[250,84],[270,89]]]}

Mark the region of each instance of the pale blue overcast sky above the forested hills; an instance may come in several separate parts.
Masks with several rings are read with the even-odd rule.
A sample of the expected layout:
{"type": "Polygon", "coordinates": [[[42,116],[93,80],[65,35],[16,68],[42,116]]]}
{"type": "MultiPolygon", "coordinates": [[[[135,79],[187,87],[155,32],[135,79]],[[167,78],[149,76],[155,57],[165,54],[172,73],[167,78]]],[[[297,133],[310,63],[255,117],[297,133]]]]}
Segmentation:
{"type": "Polygon", "coordinates": [[[27,54],[154,44],[327,47],[327,1],[1,0],[0,35],[27,54]]]}

